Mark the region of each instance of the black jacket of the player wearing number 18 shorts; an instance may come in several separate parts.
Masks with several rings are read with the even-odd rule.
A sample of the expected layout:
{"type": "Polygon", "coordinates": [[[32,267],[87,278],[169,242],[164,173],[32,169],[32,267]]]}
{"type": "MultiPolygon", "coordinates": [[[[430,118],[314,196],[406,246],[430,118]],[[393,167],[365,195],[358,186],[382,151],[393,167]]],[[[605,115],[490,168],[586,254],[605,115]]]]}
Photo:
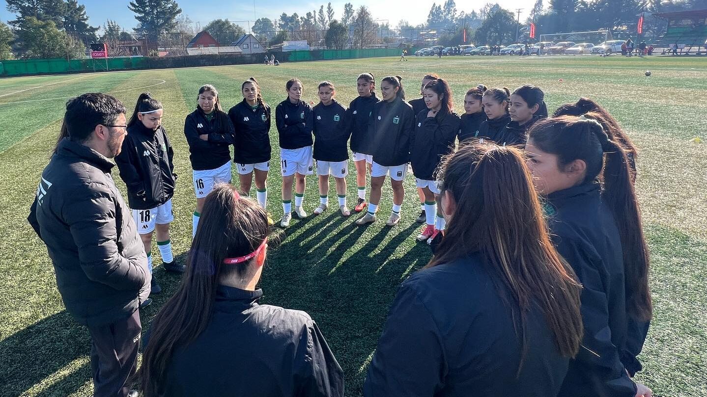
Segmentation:
{"type": "Polygon", "coordinates": [[[166,203],[175,192],[174,150],[163,126],[153,131],[141,122],[128,129],[115,158],[120,178],[128,188],[134,210],[149,210],[166,203]]]}

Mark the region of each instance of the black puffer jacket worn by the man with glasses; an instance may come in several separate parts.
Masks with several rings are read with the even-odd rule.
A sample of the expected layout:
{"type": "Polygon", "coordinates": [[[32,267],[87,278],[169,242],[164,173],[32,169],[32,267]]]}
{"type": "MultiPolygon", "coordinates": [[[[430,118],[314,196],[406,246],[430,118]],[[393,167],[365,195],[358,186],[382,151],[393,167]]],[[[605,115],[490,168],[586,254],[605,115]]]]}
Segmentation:
{"type": "Polygon", "coordinates": [[[47,244],[66,310],[81,324],[127,318],[149,294],[151,276],[113,163],[64,138],[42,172],[28,218],[47,244]]]}

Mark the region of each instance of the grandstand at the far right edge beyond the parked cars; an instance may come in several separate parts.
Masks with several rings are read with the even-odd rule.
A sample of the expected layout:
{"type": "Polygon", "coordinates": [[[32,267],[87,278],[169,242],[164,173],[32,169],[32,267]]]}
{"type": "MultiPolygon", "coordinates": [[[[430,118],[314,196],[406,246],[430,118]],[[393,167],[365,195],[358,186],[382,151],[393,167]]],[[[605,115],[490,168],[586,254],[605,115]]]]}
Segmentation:
{"type": "Polygon", "coordinates": [[[680,54],[705,53],[707,9],[653,15],[667,19],[667,29],[655,42],[656,49],[669,49],[677,44],[680,54]]]}

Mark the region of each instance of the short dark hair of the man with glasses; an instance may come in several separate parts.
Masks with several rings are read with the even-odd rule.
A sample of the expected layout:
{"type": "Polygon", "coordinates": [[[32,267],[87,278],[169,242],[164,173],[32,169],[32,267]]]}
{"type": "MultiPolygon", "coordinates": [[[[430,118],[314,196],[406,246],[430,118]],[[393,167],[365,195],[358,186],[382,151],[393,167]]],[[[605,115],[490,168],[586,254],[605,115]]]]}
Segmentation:
{"type": "Polygon", "coordinates": [[[85,143],[90,139],[95,126],[114,125],[120,114],[125,113],[122,102],[112,95],[103,93],[88,93],[79,95],[66,101],[66,113],[62,130],[59,132],[59,143],[66,137],[78,143],[85,143]]]}

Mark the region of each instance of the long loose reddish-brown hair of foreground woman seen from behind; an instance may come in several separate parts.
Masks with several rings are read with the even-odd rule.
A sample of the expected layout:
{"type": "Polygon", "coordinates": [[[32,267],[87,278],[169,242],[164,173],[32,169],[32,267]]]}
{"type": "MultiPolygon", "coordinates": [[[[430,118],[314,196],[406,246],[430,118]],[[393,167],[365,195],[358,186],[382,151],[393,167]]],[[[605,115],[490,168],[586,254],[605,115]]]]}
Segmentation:
{"type": "Polygon", "coordinates": [[[510,292],[508,304],[516,331],[520,329],[523,357],[526,315],[535,305],[544,313],[561,355],[574,357],[583,332],[581,286],[549,239],[520,150],[464,143],[445,159],[440,178],[442,194],[451,194],[456,206],[426,267],[479,252],[497,287],[510,292]]]}

